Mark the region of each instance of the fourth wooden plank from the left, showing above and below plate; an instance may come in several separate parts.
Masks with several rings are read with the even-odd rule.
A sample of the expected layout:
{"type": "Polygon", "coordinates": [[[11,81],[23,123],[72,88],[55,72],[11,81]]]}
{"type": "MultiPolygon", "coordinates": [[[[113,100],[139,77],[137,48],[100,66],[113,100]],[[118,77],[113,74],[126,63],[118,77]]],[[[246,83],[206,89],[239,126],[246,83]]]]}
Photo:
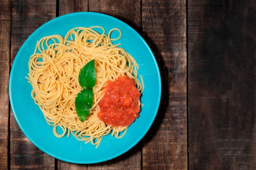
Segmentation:
{"type": "MultiPolygon", "coordinates": [[[[89,0],[89,11],[108,14],[141,31],[140,0],[89,0]]],[[[88,170],[140,170],[141,147],[139,142],[128,152],[110,161],[88,165],[88,170]]]]}

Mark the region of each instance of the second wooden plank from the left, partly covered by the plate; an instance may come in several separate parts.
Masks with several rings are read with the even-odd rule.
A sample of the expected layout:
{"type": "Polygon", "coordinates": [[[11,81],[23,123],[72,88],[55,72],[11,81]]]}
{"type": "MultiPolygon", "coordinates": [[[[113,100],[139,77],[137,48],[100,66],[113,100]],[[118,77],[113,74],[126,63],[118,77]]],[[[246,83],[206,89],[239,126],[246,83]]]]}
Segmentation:
{"type": "MultiPolygon", "coordinates": [[[[42,24],[55,18],[56,2],[52,0],[12,0],[11,62],[23,42],[42,24]]],[[[11,113],[11,169],[55,169],[55,159],[32,144],[11,113]]]]}

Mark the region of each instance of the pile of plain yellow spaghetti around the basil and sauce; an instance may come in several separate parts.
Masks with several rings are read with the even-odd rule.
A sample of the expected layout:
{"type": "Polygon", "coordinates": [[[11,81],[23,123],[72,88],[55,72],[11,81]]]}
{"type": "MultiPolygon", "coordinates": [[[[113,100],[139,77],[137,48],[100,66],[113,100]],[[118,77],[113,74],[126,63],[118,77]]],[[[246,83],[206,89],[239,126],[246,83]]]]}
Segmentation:
{"type": "MultiPolygon", "coordinates": [[[[29,83],[32,85],[31,96],[39,105],[47,123],[53,126],[56,137],[70,133],[76,139],[91,142],[99,146],[102,136],[109,133],[116,138],[125,135],[127,127],[114,127],[102,122],[97,113],[98,103],[103,97],[104,87],[108,80],[115,81],[118,77],[127,75],[136,82],[136,87],[142,93],[144,85],[138,80],[137,62],[120,44],[113,45],[113,40],[121,37],[121,31],[113,28],[105,34],[105,29],[99,26],[89,28],[78,27],[61,35],[51,35],[39,40],[35,52],[29,58],[29,83]],[[93,28],[102,29],[99,34],[93,28]],[[112,31],[119,31],[119,37],[111,39],[112,31]],[[75,99],[81,86],[78,76],[81,68],[90,60],[95,60],[96,85],[93,87],[93,106],[84,122],[76,114],[75,99]],[[62,129],[57,133],[57,127],[62,129]],[[120,132],[123,132],[120,135],[120,132]]],[[[140,100],[138,102],[140,106],[140,100]]]]}

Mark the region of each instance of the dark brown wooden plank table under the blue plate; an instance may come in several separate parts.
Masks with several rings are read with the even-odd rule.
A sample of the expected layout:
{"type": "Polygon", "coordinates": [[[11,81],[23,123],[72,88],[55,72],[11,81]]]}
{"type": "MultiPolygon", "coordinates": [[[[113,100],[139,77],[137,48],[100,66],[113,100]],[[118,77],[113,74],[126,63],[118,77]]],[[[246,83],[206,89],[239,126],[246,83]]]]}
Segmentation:
{"type": "Polygon", "coordinates": [[[256,169],[255,65],[255,0],[0,0],[0,169],[256,169]],[[42,24],[78,11],[108,14],[138,31],[163,84],[143,140],[99,164],[43,153],[9,106],[9,72],[20,46],[42,24]]]}

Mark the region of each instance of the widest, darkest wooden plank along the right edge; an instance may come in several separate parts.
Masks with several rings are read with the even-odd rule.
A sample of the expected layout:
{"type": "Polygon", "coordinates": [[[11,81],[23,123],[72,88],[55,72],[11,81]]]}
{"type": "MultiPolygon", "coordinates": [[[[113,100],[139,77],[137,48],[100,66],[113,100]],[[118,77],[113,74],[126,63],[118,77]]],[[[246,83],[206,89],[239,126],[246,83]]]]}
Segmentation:
{"type": "Polygon", "coordinates": [[[255,14],[255,0],[189,0],[189,169],[256,169],[255,14]]]}

